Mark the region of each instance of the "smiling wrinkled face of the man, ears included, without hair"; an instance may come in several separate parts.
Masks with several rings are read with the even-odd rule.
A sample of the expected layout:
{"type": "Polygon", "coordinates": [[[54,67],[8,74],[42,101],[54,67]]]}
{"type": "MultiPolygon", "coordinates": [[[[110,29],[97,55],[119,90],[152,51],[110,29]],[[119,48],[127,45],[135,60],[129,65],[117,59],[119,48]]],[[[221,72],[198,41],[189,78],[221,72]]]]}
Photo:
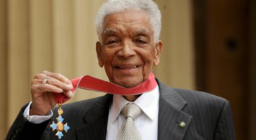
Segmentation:
{"type": "Polygon", "coordinates": [[[145,81],[159,64],[161,41],[144,11],[125,11],[106,16],[102,41],[96,43],[99,65],[112,83],[131,88],[145,81]]]}

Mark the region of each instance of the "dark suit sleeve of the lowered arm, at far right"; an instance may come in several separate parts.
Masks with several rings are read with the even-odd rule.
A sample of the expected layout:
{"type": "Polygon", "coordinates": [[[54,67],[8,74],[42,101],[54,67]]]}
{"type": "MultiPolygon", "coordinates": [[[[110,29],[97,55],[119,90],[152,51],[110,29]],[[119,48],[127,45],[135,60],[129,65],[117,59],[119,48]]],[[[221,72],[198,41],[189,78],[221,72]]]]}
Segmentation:
{"type": "Polygon", "coordinates": [[[230,103],[225,100],[222,111],[218,118],[218,124],[215,129],[215,140],[233,140],[235,139],[235,126],[230,103]]]}

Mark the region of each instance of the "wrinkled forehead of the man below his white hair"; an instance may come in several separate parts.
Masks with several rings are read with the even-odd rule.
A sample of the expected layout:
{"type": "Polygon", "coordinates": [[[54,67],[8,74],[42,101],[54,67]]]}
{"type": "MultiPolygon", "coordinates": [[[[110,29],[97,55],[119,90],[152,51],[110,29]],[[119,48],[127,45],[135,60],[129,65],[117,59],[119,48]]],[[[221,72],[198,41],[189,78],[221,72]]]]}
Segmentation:
{"type": "Polygon", "coordinates": [[[144,11],[122,11],[105,17],[102,34],[121,33],[150,33],[152,31],[150,18],[144,11]]]}

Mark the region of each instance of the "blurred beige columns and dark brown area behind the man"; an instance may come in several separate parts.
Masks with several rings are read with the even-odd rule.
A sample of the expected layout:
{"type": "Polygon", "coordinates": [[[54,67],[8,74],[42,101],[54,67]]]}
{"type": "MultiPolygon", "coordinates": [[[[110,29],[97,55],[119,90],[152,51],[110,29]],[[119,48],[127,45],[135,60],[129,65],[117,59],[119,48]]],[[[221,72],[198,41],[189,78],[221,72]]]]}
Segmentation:
{"type": "MultiPolygon", "coordinates": [[[[104,0],[0,0],[0,139],[43,70],[107,80],[94,19],[104,0]]],[[[256,1],[156,0],[164,50],[155,75],[171,87],[227,98],[238,140],[256,139],[256,1]]],[[[102,93],[79,90],[69,102],[102,93]]]]}

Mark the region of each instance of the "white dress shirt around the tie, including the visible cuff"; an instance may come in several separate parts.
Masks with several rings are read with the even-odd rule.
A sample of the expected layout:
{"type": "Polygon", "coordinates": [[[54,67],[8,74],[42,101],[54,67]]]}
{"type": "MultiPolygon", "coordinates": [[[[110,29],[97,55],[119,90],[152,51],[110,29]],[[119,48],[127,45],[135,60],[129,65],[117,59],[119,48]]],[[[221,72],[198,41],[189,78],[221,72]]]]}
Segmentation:
{"type": "MultiPolygon", "coordinates": [[[[124,122],[124,115],[120,112],[122,107],[127,103],[130,102],[122,97],[122,95],[114,95],[107,120],[107,140],[117,139],[119,128],[124,122]]],[[[142,134],[142,139],[156,140],[158,134],[159,86],[156,86],[153,91],[142,94],[133,103],[138,105],[143,111],[142,114],[134,120],[139,132],[142,134]]],[[[31,103],[23,112],[23,116],[26,117],[29,122],[39,124],[53,116],[53,112],[51,110],[46,116],[31,116],[29,115],[30,106],[31,103]]]]}

